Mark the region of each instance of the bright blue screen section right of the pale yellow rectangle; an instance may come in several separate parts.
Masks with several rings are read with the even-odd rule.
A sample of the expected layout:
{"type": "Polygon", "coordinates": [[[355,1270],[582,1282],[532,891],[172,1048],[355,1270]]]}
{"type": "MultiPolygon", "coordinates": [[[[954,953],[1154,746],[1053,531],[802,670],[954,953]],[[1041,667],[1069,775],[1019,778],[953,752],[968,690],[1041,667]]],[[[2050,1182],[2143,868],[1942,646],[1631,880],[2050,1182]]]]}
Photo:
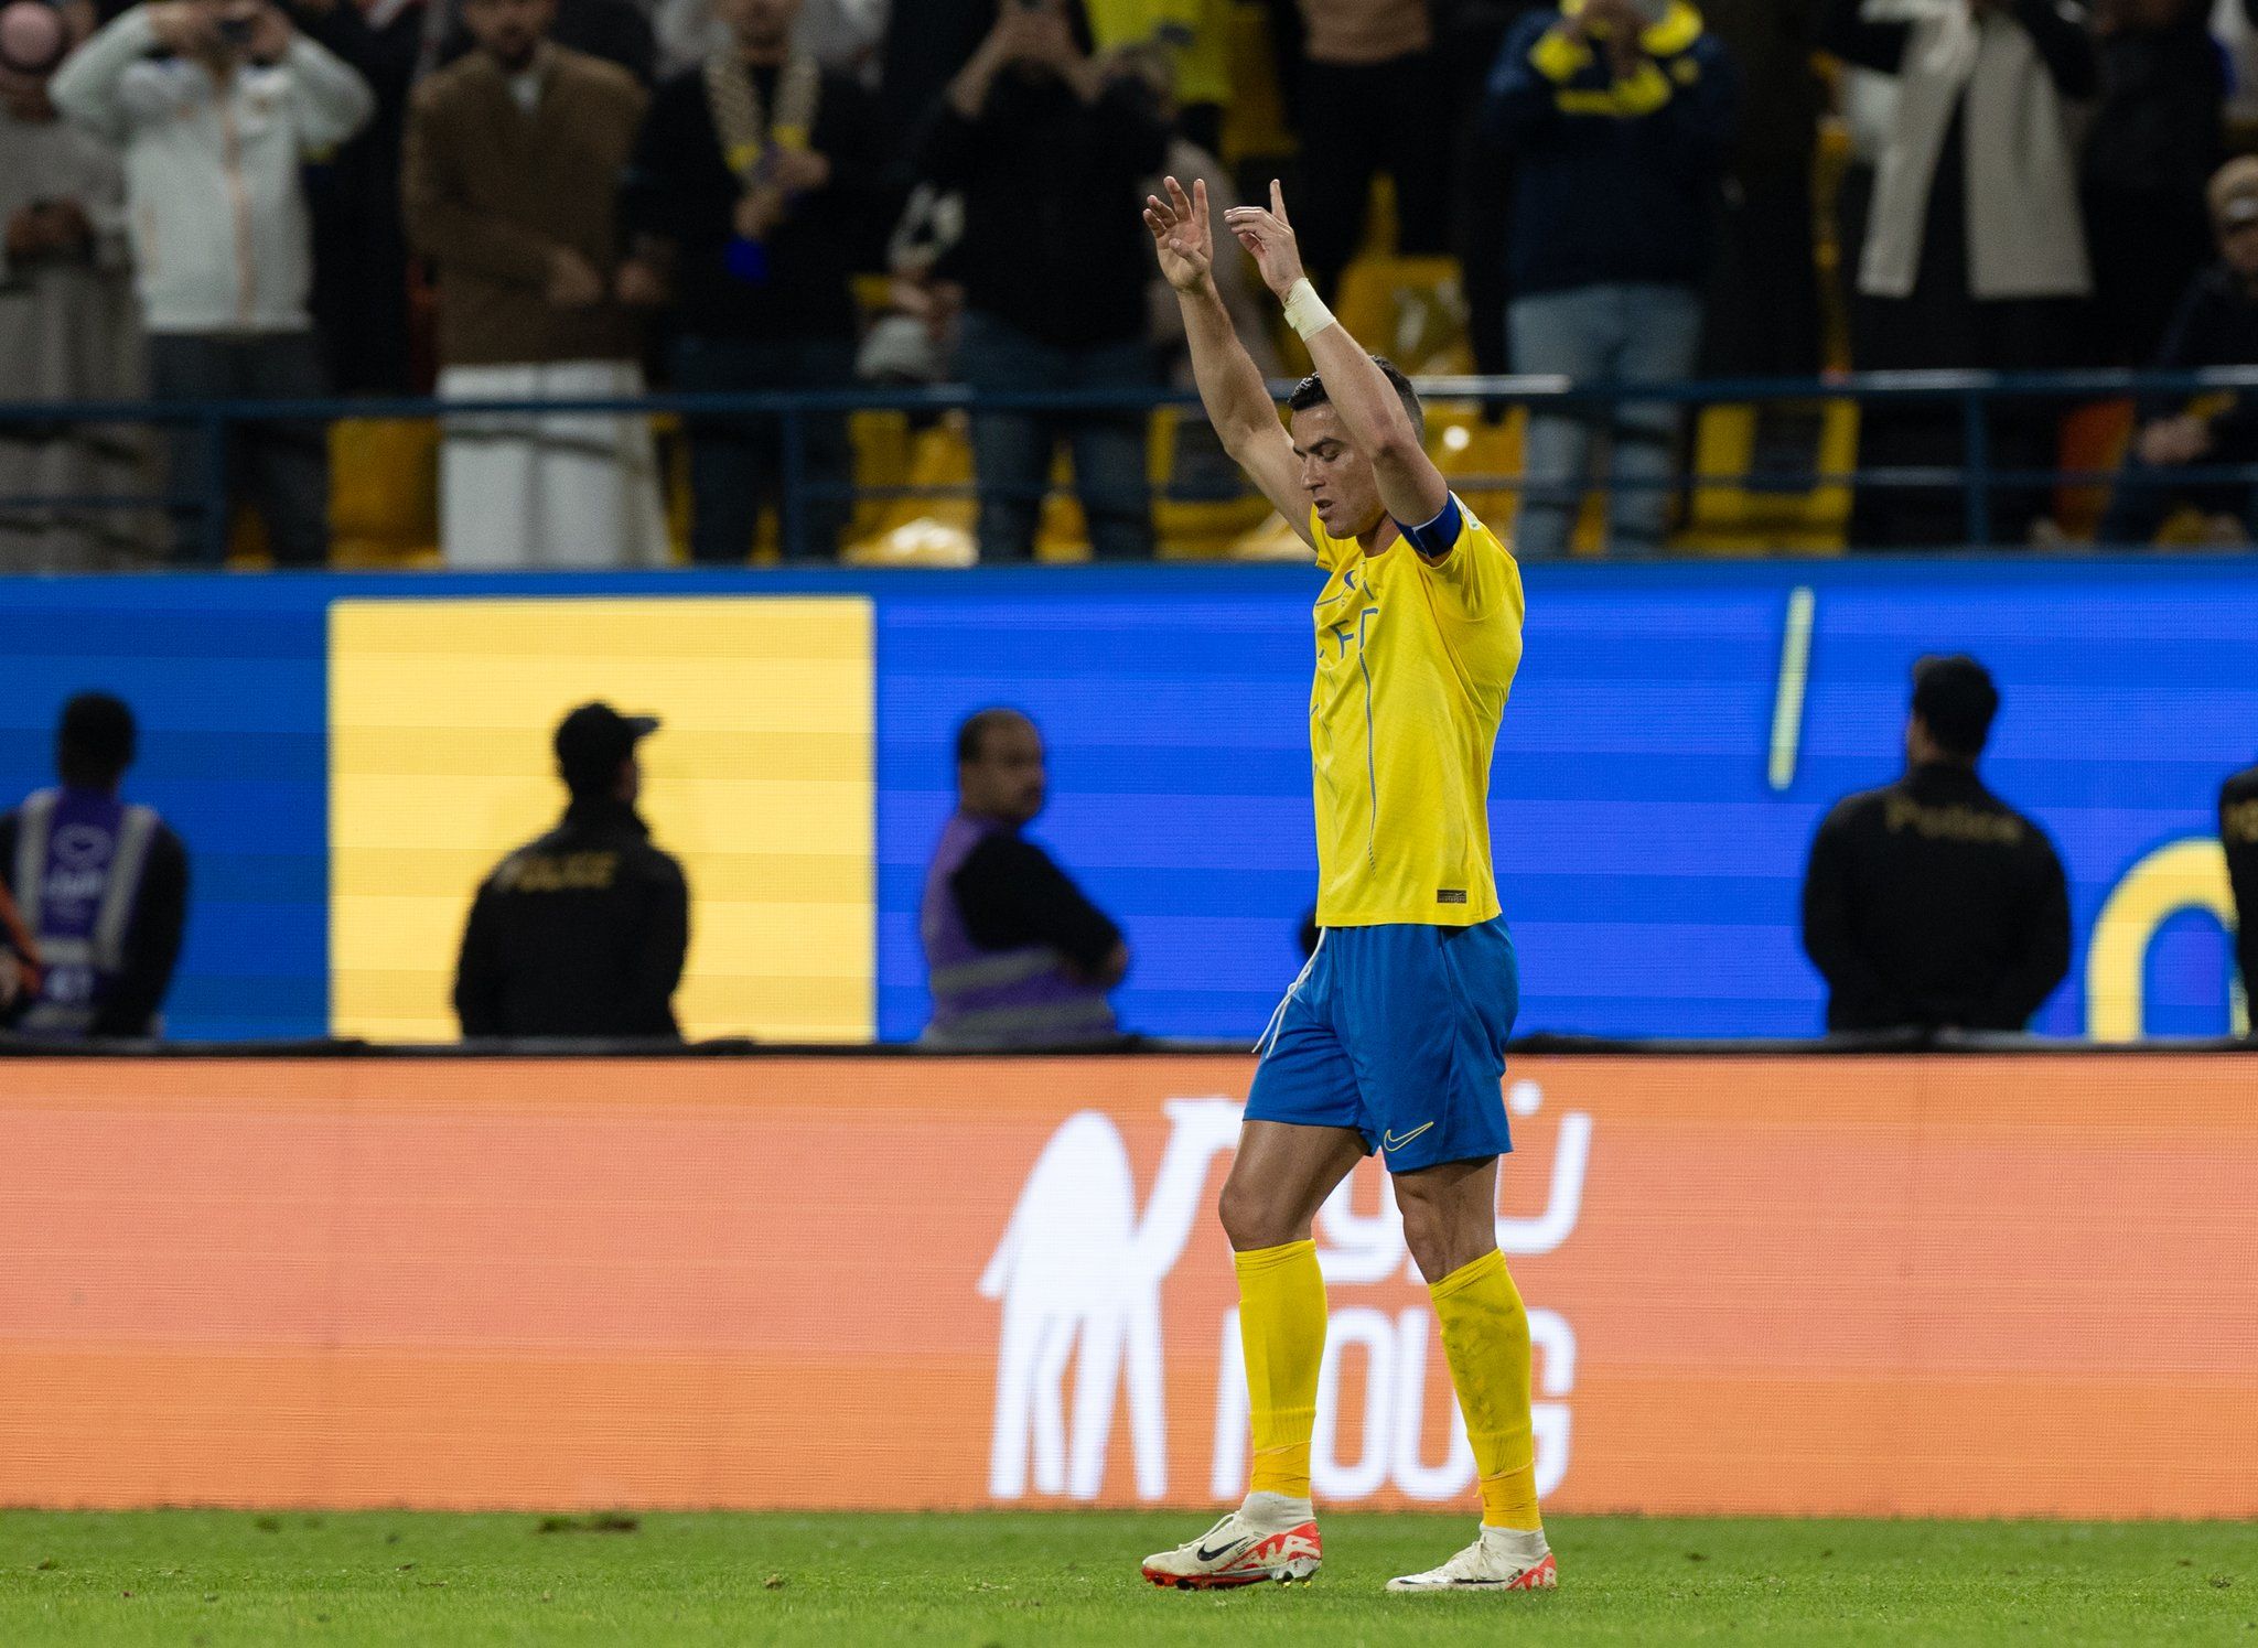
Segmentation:
{"type": "MultiPolygon", "coordinates": [[[[1802,865],[1827,806],[1903,763],[1917,657],[1969,650],[2005,709],[1985,772],[2055,838],[2080,971],[2037,1029],[2082,1034],[2084,946],[2150,851],[2215,833],[2258,759],[2258,569],[2233,562],[1531,567],[1526,657],[1493,772],[1522,1029],[1802,1036],[1802,865]],[[1768,765],[1786,614],[1811,591],[1784,790],[1768,765]]],[[[881,605],[881,1032],[924,1016],[914,912],[955,720],[1025,707],[1052,745],[1036,824],[1129,930],[1124,1023],[1253,1036],[1310,905],[1310,573],[1174,571],[881,605]],[[1095,596],[1095,598],[1093,598],[1095,596]]],[[[2172,917],[2145,1023],[2217,1034],[2229,948],[2172,917]]]]}

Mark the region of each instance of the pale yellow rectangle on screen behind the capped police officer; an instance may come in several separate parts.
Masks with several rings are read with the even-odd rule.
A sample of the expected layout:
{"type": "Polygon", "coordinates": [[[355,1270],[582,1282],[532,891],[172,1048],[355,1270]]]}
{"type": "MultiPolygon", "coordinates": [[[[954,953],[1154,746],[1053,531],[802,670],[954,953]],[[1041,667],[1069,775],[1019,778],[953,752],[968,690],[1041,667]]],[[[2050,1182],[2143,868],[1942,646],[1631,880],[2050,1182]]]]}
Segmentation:
{"type": "Polygon", "coordinates": [[[869,1041],[872,610],[860,598],[330,607],[330,1029],[454,1041],[479,880],[564,808],[592,698],[664,725],[641,813],[691,885],[686,1036],[869,1041]]]}

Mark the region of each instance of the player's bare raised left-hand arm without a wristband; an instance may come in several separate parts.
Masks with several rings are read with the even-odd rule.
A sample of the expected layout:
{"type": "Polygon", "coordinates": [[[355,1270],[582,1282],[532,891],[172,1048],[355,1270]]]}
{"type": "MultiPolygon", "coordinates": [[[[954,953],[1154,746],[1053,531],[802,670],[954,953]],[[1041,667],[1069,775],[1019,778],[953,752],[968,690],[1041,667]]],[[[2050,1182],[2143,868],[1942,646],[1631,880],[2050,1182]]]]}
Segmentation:
{"type": "Polygon", "coordinates": [[[1262,368],[1255,366],[1231,312],[1215,289],[1215,230],[1208,219],[1208,185],[1192,178],[1185,194],[1167,178],[1167,199],[1145,196],[1145,228],[1161,260],[1161,278],[1183,307],[1183,336],[1192,350],[1192,377],[1199,382],[1199,404],[1208,411],[1224,452],[1253,481],[1271,508],[1285,517],[1301,542],[1310,537],[1310,490],[1301,483],[1301,458],[1278,422],[1278,402],[1269,397],[1262,368]]]}

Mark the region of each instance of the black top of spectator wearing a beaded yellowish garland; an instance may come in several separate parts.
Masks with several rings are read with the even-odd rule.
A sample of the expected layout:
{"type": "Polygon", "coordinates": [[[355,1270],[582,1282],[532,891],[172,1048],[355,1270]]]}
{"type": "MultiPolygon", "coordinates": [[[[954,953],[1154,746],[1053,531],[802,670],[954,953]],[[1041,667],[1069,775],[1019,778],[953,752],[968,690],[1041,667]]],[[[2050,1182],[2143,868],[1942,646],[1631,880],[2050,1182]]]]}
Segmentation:
{"type": "MultiPolygon", "coordinates": [[[[774,117],[777,70],[756,68],[752,79],[761,108],[774,117]]],[[[858,269],[881,266],[878,242],[890,221],[881,192],[885,154],[869,93],[844,74],[824,72],[808,147],[831,163],[831,181],[799,199],[768,233],[768,278],[750,284],[723,262],[743,187],[714,133],[704,70],[675,74],[650,99],[619,210],[630,235],[655,235],[673,246],[677,318],[686,334],[854,339],[849,282],[858,269]]]]}

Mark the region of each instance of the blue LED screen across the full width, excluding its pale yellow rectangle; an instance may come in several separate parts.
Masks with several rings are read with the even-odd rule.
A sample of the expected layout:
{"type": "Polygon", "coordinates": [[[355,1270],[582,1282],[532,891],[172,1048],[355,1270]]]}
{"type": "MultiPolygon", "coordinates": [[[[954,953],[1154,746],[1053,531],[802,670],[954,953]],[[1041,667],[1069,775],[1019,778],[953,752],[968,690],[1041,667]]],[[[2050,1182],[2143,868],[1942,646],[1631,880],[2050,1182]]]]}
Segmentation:
{"type": "MultiPolygon", "coordinates": [[[[2037,1020],[2086,1029],[2102,903],[2215,831],[2258,759],[2258,560],[1928,560],[1531,567],[1526,659],[1493,788],[1522,1029],[1800,1036],[1797,941],[1824,808],[1901,765],[1906,673],[1969,650],[2005,709],[1985,772],[2055,838],[2077,971],[2037,1020]],[[1811,591],[1793,777],[1775,790],[1782,646],[1811,591]]],[[[948,810],[951,734],[991,702],[1052,752],[1034,833],[1124,926],[1122,1020],[1251,1038],[1301,964],[1312,898],[1307,605],[1292,567],[571,578],[0,580],[0,804],[50,781],[81,686],[145,725],[129,792],[187,838],[194,908],[169,1005],[185,1038],[327,1025],[325,610],[341,596],[863,594],[876,612],[878,1023],[924,1023],[917,901],[948,810]]],[[[2229,1023],[2220,919],[2165,910],[2141,1023],[2229,1023]]]]}

